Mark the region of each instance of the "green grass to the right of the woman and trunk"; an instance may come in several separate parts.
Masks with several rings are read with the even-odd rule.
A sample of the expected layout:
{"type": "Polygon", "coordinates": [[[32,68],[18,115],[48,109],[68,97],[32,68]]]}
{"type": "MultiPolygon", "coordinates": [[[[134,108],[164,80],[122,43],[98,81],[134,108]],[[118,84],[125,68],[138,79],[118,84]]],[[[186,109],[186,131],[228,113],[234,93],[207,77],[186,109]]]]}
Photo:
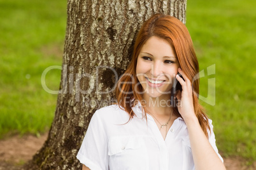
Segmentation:
{"type": "MultiPolygon", "coordinates": [[[[256,160],[255,6],[253,0],[188,1],[186,24],[200,69],[215,64],[209,78],[216,80],[216,103],[201,103],[213,119],[218,149],[249,161],[256,160]]],[[[208,77],[200,90],[207,96],[208,77]]]]}

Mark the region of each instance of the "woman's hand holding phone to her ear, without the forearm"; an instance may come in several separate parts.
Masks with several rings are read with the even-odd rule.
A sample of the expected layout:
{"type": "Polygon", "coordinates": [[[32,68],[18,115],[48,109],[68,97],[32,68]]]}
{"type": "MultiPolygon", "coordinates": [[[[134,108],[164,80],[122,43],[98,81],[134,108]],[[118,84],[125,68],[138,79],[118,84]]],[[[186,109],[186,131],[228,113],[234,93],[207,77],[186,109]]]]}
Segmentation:
{"type": "Polygon", "coordinates": [[[178,99],[178,111],[180,112],[183,120],[186,122],[187,120],[196,118],[193,105],[192,83],[180,68],[178,68],[178,72],[185,80],[184,81],[179,75],[176,75],[176,79],[180,82],[182,87],[182,92],[178,91],[176,95],[176,98],[178,99]]]}

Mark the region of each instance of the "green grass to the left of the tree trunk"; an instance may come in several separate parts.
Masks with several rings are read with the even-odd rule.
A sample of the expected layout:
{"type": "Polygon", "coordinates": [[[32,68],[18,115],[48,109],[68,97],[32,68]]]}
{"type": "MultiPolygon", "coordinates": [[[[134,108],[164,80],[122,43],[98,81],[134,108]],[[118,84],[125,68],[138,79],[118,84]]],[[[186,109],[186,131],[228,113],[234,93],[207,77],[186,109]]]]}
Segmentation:
{"type": "MultiPolygon", "coordinates": [[[[66,1],[0,1],[0,138],[47,131],[57,95],[46,93],[41,74],[61,65],[66,30],[66,1]]],[[[60,70],[46,75],[57,90],[60,70]]]]}

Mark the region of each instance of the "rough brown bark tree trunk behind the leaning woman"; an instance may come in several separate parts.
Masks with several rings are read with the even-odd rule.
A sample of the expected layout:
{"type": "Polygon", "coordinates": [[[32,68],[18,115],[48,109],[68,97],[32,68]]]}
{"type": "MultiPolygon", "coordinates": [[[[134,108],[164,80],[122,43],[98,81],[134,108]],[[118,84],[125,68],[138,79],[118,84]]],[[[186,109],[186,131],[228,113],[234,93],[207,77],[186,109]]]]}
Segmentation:
{"type": "Polygon", "coordinates": [[[187,0],[68,0],[68,22],[55,118],[25,169],[81,169],[76,159],[90,118],[110,105],[141,24],[153,13],[185,23],[187,0]]]}

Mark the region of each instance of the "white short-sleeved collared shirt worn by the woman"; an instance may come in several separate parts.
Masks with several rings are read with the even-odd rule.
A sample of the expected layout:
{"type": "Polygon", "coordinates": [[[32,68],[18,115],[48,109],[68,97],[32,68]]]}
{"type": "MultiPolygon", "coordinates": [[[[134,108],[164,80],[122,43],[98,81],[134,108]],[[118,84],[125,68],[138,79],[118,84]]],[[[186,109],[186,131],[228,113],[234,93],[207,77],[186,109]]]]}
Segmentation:
{"type": "MultiPolygon", "coordinates": [[[[153,117],[147,114],[146,123],[141,106],[136,105],[132,110],[136,116],[127,124],[129,115],[118,105],[97,110],[92,116],[77,159],[92,170],[195,169],[187,126],[181,117],[173,122],[164,140],[153,117]]],[[[209,141],[218,154],[210,119],[209,122],[209,141]]],[[[220,154],[218,157],[223,162],[220,154]]]]}

